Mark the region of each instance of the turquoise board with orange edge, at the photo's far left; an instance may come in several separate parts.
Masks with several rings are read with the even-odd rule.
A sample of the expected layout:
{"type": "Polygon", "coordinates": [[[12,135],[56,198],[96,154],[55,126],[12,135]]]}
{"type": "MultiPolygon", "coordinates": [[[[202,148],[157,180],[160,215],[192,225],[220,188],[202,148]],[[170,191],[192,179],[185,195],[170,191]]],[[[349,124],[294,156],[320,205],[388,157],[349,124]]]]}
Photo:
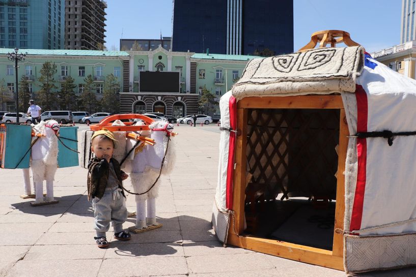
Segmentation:
{"type": "Polygon", "coordinates": [[[2,168],[29,168],[32,127],[29,125],[2,125],[2,168]],[[27,151],[29,150],[29,151],[27,151]],[[27,153],[26,153],[27,152],[27,153]]]}

